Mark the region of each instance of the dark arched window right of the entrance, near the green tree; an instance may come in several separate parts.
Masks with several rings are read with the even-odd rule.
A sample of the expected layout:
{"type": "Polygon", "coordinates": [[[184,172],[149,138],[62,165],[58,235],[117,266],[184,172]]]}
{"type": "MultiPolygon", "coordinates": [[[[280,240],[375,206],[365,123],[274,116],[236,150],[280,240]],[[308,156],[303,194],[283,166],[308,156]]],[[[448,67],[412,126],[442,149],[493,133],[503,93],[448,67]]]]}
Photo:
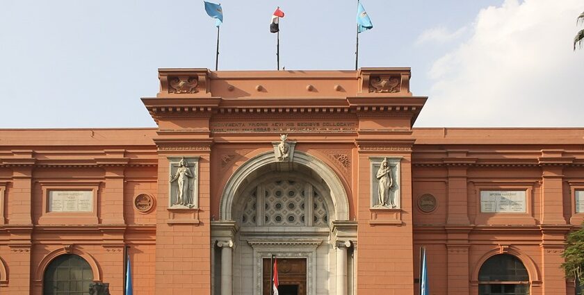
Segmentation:
{"type": "Polygon", "coordinates": [[[478,271],[479,295],[527,295],[529,274],[513,255],[494,255],[478,271]]]}

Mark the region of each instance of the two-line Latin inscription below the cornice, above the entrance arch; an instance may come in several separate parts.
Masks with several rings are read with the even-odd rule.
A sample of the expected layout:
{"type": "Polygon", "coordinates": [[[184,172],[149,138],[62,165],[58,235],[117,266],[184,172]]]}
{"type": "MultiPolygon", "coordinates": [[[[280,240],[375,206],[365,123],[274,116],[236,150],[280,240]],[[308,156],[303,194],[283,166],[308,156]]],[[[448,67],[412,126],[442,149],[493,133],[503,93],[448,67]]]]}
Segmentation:
{"type": "Polygon", "coordinates": [[[273,132],[352,132],[357,130],[357,122],[333,121],[293,121],[293,122],[234,122],[211,123],[211,132],[273,133],[273,132]]]}

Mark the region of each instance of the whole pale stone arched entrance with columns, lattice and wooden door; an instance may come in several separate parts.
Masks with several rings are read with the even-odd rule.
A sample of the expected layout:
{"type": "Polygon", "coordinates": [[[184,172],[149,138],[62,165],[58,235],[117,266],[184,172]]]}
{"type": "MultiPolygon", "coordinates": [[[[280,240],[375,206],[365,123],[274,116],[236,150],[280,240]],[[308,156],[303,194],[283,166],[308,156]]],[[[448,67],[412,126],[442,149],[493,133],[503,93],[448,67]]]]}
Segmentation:
{"type": "MultiPolygon", "coordinates": [[[[286,292],[339,294],[336,284],[347,285],[351,242],[347,235],[339,241],[331,228],[348,221],[348,198],[321,160],[298,151],[291,162],[279,162],[273,153],[258,155],[230,178],[220,210],[221,221],[211,229],[213,285],[221,286],[215,294],[266,293],[272,255],[282,262],[279,284],[286,292]],[[344,276],[337,279],[337,273],[344,276]]],[[[356,226],[352,231],[356,238],[356,226]]]]}

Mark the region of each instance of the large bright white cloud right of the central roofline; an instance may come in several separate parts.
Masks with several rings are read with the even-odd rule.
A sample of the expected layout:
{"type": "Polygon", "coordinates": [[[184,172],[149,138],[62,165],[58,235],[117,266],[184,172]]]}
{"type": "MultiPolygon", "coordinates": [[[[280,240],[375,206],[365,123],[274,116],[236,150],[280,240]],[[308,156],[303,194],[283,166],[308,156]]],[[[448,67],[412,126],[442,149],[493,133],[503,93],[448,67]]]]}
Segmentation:
{"type": "Polygon", "coordinates": [[[581,0],[505,0],[435,60],[416,126],[584,126],[584,51],[572,51],[581,0]]]}

